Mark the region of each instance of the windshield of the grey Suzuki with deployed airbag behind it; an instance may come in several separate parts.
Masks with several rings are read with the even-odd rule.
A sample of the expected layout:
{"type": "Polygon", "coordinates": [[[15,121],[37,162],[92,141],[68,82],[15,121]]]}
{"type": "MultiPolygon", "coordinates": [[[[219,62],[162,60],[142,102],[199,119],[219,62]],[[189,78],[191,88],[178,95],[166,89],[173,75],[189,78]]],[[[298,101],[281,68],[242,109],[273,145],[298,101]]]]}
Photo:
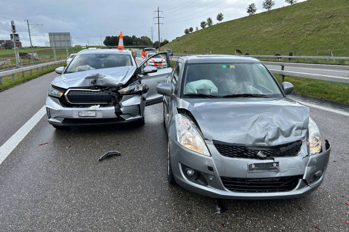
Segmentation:
{"type": "Polygon", "coordinates": [[[188,64],[182,93],[190,98],[283,96],[261,63],[188,64]]]}

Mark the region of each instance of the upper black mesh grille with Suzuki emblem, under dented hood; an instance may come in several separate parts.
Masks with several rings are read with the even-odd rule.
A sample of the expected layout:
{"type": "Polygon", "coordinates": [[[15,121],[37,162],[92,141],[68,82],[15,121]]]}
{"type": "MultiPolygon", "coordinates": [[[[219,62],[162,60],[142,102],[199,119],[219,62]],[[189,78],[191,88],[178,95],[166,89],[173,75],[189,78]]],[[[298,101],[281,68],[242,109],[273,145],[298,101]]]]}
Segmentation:
{"type": "Polygon", "coordinates": [[[297,140],[282,145],[260,147],[229,144],[219,141],[213,141],[213,144],[217,151],[223,156],[233,158],[268,158],[297,155],[302,146],[302,141],[297,140]],[[262,152],[265,157],[258,156],[257,154],[259,152],[262,152]]]}

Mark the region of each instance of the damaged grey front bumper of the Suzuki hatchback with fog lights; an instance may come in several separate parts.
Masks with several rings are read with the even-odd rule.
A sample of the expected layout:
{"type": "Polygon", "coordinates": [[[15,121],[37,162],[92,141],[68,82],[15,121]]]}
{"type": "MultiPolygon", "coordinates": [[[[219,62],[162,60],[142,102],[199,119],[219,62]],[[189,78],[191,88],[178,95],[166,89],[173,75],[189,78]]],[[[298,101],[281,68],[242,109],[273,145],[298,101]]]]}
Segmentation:
{"type": "MultiPolygon", "coordinates": [[[[318,155],[296,155],[261,160],[222,156],[214,145],[209,142],[206,144],[212,155],[211,157],[192,152],[181,146],[175,139],[169,138],[169,143],[171,167],[176,182],[189,191],[222,199],[283,199],[305,196],[320,186],[331,150],[330,144],[326,141],[326,151],[318,155]],[[278,162],[280,170],[273,172],[248,171],[249,164],[265,162],[278,162]],[[197,171],[200,178],[190,180],[185,175],[187,168],[197,171]],[[235,187],[237,190],[227,188],[227,181],[231,180],[240,181],[228,182],[229,187],[238,183],[235,187]],[[285,182],[294,180],[294,185],[287,191],[239,190],[241,183],[244,183],[245,180],[257,181],[248,184],[258,184],[258,180],[270,180],[272,183],[279,180],[285,180],[285,182]]],[[[303,151],[307,149],[306,144],[302,145],[302,149],[303,151]]]]}

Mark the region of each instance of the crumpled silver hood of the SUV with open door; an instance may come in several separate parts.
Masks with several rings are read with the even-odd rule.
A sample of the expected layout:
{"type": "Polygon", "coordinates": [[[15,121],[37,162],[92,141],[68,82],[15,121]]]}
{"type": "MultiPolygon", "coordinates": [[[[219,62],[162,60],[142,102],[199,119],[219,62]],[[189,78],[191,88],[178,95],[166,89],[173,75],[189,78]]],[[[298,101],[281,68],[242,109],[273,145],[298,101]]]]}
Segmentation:
{"type": "Polygon", "coordinates": [[[62,74],[51,84],[64,89],[88,86],[119,87],[126,84],[136,69],[136,66],[123,66],[62,74]]]}

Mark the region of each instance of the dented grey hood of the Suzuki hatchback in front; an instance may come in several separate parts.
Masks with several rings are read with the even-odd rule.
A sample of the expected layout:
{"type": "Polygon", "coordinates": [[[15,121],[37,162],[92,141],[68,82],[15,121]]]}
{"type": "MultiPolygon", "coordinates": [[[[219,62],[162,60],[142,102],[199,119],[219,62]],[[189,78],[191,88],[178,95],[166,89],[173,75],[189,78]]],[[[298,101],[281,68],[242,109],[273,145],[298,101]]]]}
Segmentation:
{"type": "Polygon", "coordinates": [[[187,103],[184,108],[208,140],[273,146],[307,137],[309,108],[287,98],[189,99],[187,103]]]}

